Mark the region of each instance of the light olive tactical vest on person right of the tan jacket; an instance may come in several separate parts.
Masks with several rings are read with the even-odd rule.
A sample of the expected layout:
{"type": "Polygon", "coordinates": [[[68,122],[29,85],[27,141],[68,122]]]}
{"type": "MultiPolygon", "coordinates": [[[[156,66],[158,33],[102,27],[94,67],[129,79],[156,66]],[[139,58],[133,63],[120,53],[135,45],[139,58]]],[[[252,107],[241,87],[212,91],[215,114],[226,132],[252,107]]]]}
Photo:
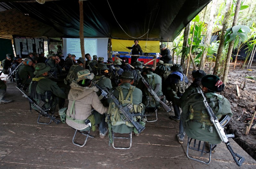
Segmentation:
{"type": "MultiPolygon", "coordinates": [[[[123,88],[121,86],[116,87],[116,90],[118,90],[118,92],[119,92],[119,102],[121,102],[122,106],[124,107],[129,103],[132,104],[132,92],[134,91],[135,86],[130,86],[129,92],[125,99],[124,99],[122,89],[123,88]],[[129,98],[130,98],[130,100],[128,100],[129,98]]],[[[133,106],[133,109],[130,110],[131,113],[132,112],[134,112],[134,113],[142,113],[143,112],[143,104],[142,103],[132,104],[132,106],[133,106]]],[[[123,119],[125,119],[125,117],[118,110],[119,109],[116,107],[114,102],[111,102],[109,104],[108,115],[110,115],[111,125],[116,126],[116,125],[126,124],[129,127],[134,127],[131,122],[127,122],[127,121],[123,120],[123,119]],[[122,117],[120,117],[120,116],[122,116],[122,117]]],[[[138,121],[140,118],[141,118],[141,116],[135,116],[135,117],[133,117],[133,120],[138,121]]]]}

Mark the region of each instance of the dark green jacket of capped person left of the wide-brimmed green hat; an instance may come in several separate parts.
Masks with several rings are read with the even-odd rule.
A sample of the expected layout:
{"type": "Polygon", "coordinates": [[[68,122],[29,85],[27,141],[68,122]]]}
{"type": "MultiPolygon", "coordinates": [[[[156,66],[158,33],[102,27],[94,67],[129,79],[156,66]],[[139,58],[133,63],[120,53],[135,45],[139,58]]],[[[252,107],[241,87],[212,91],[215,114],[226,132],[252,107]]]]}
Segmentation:
{"type": "Polygon", "coordinates": [[[29,84],[32,81],[32,78],[35,76],[33,68],[25,64],[22,64],[18,68],[18,74],[22,79],[22,84],[29,84]]]}

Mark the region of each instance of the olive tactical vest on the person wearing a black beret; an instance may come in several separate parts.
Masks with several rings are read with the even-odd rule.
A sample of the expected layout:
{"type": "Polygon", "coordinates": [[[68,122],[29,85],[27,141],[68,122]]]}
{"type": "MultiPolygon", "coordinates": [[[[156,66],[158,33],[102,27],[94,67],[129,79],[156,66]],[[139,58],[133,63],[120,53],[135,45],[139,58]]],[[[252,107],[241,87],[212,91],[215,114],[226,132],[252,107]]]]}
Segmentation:
{"type": "MultiPolygon", "coordinates": [[[[220,120],[221,118],[221,111],[222,111],[222,100],[224,99],[223,95],[219,95],[216,93],[205,93],[205,96],[210,99],[209,106],[212,108],[213,113],[215,116],[220,120]]],[[[202,111],[193,109],[192,105],[189,107],[190,114],[188,116],[188,122],[189,120],[195,120],[199,123],[202,123],[202,130],[205,129],[205,125],[210,126],[210,132],[212,133],[212,123],[210,121],[210,117],[207,114],[206,109],[203,109],[202,111]]]]}

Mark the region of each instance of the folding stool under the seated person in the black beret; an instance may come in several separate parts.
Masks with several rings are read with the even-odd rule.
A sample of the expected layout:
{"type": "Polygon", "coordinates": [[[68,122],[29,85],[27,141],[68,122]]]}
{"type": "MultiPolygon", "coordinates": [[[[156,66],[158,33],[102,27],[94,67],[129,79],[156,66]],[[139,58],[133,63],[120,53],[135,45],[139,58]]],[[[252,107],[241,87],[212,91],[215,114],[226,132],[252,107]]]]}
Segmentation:
{"type": "MultiPolygon", "coordinates": [[[[202,141],[194,139],[194,144],[193,144],[193,146],[190,146],[192,140],[193,140],[193,138],[190,138],[190,139],[189,139],[189,137],[188,137],[187,157],[190,158],[190,159],[192,159],[192,160],[196,160],[196,161],[198,161],[198,162],[204,163],[204,164],[209,164],[209,163],[211,162],[211,158],[212,158],[212,150],[217,146],[217,144],[213,144],[213,145],[214,145],[213,147],[212,147],[212,144],[210,144],[210,150],[209,150],[209,151],[204,151],[206,142],[203,142],[203,145],[202,145],[202,147],[201,147],[201,142],[202,142],[202,141]],[[196,141],[198,141],[198,142],[196,142],[196,141]],[[189,156],[189,155],[188,155],[188,150],[189,150],[189,149],[199,151],[199,152],[200,152],[200,157],[197,157],[197,158],[195,157],[195,158],[194,158],[194,157],[192,157],[192,156],[189,156]],[[209,153],[209,157],[207,157],[207,158],[203,157],[204,153],[206,153],[206,154],[209,153]],[[200,160],[200,158],[201,158],[201,159],[207,159],[208,161],[200,160]]],[[[196,151],[194,151],[193,155],[195,155],[195,152],[196,152],[196,151]]],[[[192,153],[191,153],[191,154],[192,154],[192,153]]],[[[197,155],[197,156],[198,156],[198,155],[197,155]]]]}

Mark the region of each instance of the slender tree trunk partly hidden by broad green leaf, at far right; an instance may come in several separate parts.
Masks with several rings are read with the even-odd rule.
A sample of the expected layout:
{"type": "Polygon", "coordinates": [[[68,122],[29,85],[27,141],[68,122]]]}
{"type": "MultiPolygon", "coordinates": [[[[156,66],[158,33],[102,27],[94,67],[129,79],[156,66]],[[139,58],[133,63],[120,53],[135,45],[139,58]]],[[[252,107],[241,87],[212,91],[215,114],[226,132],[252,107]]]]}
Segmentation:
{"type": "MultiPolygon", "coordinates": [[[[241,2],[242,2],[242,0],[237,0],[236,1],[236,11],[235,11],[232,27],[237,25],[238,16],[239,16],[239,10],[240,10],[240,7],[241,7],[241,2]]],[[[229,62],[230,62],[233,46],[234,46],[234,40],[229,42],[229,45],[228,45],[228,53],[227,53],[227,58],[226,58],[226,65],[225,65],[225,69],[224,69],[224,73],[223,73],[223,79],[222,79],[224,84],[226,84],[227,78],[228,78],[229,62]]],[[[239,50],[237,50],[237,54],[238,54],[238,52],[239,52],[239,50]]],[[[237,55],[236,55],[236,60],[237,60],[237,55]]],[[[236,60],[235,60],[234,67],[236,66],[236,60]]]]}

